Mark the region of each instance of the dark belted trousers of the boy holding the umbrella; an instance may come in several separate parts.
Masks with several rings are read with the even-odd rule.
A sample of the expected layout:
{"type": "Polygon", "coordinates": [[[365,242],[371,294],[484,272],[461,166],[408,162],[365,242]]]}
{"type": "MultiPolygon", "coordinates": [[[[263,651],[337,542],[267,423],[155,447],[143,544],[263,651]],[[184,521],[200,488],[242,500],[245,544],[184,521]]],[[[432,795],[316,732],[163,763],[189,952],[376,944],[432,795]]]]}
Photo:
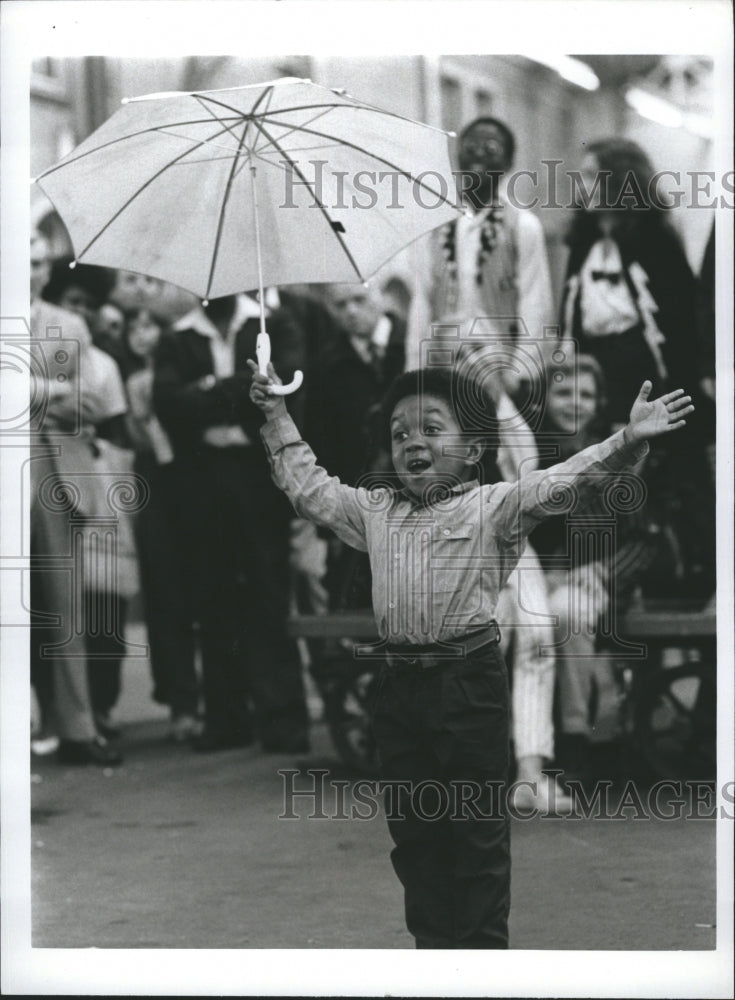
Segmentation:
{"type": "Polygon", "coordinates": [[[382,778],[410,785],[386,809],[416,947],[507,948],[508,678],[498,646],[437,667],[384,668],[374,731],[382,778]]]}

